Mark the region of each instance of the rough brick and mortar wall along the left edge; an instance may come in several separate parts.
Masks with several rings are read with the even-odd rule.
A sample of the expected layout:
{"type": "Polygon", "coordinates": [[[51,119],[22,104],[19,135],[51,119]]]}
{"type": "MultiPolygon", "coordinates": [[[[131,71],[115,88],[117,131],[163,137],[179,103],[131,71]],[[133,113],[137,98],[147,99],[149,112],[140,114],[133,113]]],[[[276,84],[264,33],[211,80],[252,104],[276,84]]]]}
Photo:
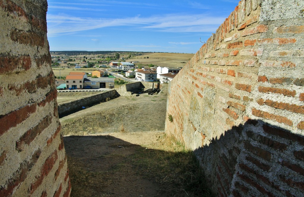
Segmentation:
{"type": "Polygon", "coordinates": [[[70,195],[46,12],[0,0],[0,196],[70,195]]]}

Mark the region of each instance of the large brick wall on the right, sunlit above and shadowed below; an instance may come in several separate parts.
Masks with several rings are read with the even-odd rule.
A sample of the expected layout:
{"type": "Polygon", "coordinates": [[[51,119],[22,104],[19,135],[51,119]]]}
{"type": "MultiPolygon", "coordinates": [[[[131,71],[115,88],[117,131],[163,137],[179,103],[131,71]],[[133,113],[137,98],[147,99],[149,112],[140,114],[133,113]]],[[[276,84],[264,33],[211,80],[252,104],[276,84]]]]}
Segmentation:
{"type": "Polygon", "coordinates": [[[219,196],[304,195],[303,9],[240,1],[169,85],[165,130],[219,196]]]}

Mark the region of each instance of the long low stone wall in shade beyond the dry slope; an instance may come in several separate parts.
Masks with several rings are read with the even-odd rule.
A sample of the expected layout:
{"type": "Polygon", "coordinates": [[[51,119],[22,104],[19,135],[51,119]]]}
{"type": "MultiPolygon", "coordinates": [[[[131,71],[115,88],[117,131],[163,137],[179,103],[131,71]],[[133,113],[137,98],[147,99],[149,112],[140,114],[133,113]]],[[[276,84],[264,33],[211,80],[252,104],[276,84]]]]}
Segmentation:
{"type": "Polygon", "coordinates": [[[83,106],[92,106],[94,104],[98,104],[102,101],[106,101],[117,98],[119,95],[117,94],[116,90],[110,90],[107,92],[103,92],[100,94],[95,94],[93,96],[88,96],[82,99],[74,100],[69,103],[64,103],[58,106],[58,114],[59,117],[63,115],[70,114],[75,111],[79,111],[82,109],[83,106]]]}

